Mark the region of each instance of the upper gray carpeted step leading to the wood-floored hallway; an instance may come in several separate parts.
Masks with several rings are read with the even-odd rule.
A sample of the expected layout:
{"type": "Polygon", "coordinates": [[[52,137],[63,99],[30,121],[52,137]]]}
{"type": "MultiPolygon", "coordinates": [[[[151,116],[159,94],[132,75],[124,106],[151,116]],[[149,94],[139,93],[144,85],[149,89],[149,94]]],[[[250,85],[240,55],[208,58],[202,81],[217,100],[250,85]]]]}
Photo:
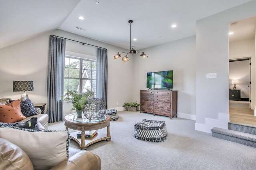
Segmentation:
{"type": "Polygon", "coordinates": [[[239,123],[228,123],[228,129],[233,131],[239,131],[244,133],[250,133],[252,135],[256,135],[256,127],[252,125],[242,125],[239,123]]]}

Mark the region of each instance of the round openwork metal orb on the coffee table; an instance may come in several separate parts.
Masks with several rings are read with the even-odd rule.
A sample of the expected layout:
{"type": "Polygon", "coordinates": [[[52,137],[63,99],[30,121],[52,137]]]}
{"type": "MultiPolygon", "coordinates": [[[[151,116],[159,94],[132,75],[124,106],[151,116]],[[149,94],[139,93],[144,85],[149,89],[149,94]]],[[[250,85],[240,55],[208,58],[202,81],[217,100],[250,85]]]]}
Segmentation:
{"type": "Polygon", "coordinates": [[[84,116],[89,120],[98,120],[106,114],[104,102],[98,98],[88,99],[83,108],[84,116]]]}

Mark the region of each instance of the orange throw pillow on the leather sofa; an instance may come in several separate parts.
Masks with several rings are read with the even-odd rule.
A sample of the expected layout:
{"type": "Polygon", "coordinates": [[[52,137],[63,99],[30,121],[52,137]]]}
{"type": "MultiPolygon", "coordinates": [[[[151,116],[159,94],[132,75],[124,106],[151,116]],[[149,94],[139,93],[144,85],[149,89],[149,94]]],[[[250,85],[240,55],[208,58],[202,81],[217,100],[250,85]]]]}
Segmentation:
{"type": "Polygon", "coordinates": [[[7,105],[0,105],[0,122],[15,123],[25,118],[20,111],[20,100],[15,100],[7,105]]]}

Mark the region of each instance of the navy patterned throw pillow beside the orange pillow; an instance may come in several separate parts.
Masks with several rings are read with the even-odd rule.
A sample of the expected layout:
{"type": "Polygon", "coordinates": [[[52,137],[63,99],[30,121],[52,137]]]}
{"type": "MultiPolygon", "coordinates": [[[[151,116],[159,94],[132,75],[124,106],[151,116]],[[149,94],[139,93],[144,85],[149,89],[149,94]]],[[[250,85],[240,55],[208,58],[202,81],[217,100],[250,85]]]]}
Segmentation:
{"type": "Polygon", "coordinates": [[[26,99],[23,102],[20,102],[20,109],[21,113],[26,117],[38,115],[36,108],[30,99],[26,99]]]}

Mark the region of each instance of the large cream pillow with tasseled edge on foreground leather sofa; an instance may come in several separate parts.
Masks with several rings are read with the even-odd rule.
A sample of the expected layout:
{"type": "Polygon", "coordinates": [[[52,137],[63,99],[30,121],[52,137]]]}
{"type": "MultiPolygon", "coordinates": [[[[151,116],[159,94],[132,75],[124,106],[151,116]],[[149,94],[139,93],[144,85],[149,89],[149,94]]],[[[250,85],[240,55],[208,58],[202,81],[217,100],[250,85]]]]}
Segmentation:
{"type": "Polygon", "coordinates": [[[24,150],[36,170],[48,170],[68,158],[68,131],[42,132],[17,127],[0,127],[0,138],[24,150]]]}

